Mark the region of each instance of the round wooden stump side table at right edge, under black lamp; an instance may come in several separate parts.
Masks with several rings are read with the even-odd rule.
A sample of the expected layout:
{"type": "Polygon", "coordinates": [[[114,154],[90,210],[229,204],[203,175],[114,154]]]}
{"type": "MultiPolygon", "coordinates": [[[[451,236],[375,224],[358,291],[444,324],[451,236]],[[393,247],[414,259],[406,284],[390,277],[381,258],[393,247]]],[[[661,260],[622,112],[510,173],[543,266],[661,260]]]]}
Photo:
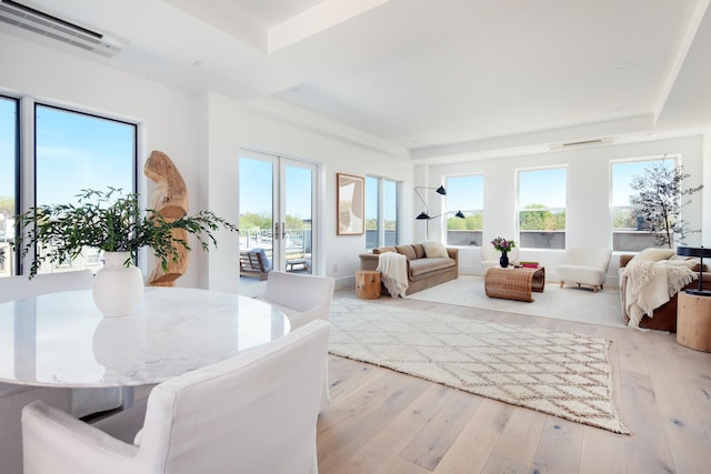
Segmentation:
{"type": "Polygon", "coordinates": [[[711,296],[679,292],[677,342],[697,351],[711,352],[711,296]]]}

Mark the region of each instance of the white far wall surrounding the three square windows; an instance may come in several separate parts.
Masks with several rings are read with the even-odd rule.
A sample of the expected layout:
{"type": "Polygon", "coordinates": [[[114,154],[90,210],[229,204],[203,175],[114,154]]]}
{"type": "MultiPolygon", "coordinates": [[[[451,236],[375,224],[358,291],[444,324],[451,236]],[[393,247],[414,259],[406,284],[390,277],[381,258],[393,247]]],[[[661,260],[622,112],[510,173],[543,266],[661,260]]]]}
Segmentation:
{"type": "MultiPolygon", "coordinates": [[[[515,239],[517,172],[522,169],[541,167],[568,168],[568,230],[567,245],[610,246],[611,230],[609,219],[610,205],[610,167],[612,160],[659,157],[664,153],[681,154],[684,171],[691,177],[684,184],[697,185],[708,178],[708,152],[704,152],[704,137],[695,134],[685,138],[647,141],[642,143],[611,144],[578,150],[541,153],[534,155],[509,157],[451,164],[418,165],[417,177],[427,177],[427,185],[439,185],[445,177],[478,174],[484,177],[484,233],[483,242],[497,235],[515,239]],[[707,155],[704,167],[704,153],[707,155]],[[705,174],[704,174],[705,173],[705,174]]],[[[694,194],[693,202],[684,208],[683,218],[693,229],[704,225],[702,203],[711,192],[708,180],[704,194],[694,194]]],[[[432,208],[431,208],[432,209],[432,208]]],[[[432,210],[432,213],[439,213],[432,210]]],[[[707,219],[710,219],[707,216],[707,219]]],[[[708,223],[705,223],[708,225],[708,223]]],[[[430,238],[440,239],[440,229],[430,226],[430,238]]],[[[443,238],[442,238],[443,239],[443,238]]],[[[699,245],[709,234],[692,234],[688,244],[699,245]]],[[[479,248],[460,250],[462,273],[480,274],[479,248]]],[[[562,261],[562,250],[521,250],[521,260],[535,260],[547,270],[547,279],[557,281],[555,266],[562,261]]],[[[614,254],[608,272],[608,285],[617,285],[618,255],[614,254]]]]}

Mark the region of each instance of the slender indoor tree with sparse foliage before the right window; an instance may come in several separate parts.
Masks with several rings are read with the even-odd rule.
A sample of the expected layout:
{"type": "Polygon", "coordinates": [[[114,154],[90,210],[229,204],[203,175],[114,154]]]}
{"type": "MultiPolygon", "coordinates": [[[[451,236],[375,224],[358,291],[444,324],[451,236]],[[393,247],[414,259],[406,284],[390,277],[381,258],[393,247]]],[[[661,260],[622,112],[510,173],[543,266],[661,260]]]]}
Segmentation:
{"type": "Polygon", "coordinates": [[[630,196],[630,202],[637,206],[635,216],[655,234],[658,246],[671,249],[674,236],[684,243],[688,234],[699,232],[681,218],[681,210],[691,203],[688,196],[703,188],[703,184],[683,188],[682,181],[689,177],[681,165],[668,168],[660,162],[632,179],[631,188],[637,193],[630,196]]]}

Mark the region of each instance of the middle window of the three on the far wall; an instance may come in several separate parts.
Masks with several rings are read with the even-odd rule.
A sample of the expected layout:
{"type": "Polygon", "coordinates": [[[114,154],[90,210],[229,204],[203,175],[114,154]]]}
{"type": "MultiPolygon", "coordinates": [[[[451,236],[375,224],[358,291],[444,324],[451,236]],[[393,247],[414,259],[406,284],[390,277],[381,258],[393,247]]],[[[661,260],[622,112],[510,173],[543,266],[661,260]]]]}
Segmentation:
{"type": "Polygon", "coordinates": [[[567,172],[519,171],[519,246],[565,249],[567,172]]]}

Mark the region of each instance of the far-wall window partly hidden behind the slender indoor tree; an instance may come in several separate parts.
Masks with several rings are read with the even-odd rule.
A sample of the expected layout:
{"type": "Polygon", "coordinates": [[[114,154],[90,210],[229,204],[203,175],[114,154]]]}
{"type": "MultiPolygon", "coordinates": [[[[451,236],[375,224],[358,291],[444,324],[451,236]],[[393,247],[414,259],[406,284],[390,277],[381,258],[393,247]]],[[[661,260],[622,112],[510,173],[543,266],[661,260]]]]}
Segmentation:
{"type": "Polygon", "coordinates": [[[634,194],[631,185],[634,178],[642,175],[645,169],[659,164],[672,170],[677,167],[677,158],[659,157],[611,163],[612,250],[629,252],[657,246],[654,233],[645,228],[643,220],[635,218],[635,208],[630,203],[630,198],[634,194]]]}

